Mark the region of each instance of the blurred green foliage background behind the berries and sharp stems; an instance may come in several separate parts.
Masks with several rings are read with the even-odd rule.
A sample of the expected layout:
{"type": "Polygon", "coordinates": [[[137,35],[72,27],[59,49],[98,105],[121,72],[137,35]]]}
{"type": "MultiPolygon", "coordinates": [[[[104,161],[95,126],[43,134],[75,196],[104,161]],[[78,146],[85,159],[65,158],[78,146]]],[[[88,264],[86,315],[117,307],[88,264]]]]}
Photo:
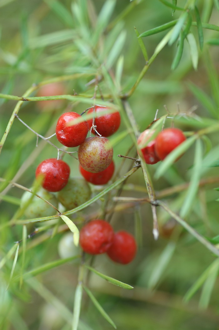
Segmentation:
{"type": "MultiPolygon", "coordinates": [[[[218,24],[217,0],[190,2],[196,3],[203,22],[218,24]]],[[[133,135],[130,133],[132,126],[118,95],[130,90],[145,66],[134,27],[139,33],[143,33],[178,19],[181,11],[172,13],[171,6],[165,5],[167,3],[172,4],[172,1],[0,0],[1,93],[21,96],[34,84],[57,78],[62,81],[64,94],[77,93],[85,96],[85,101],[64,100],[55,106],[42,107],[40,102],[22,104],[19,117],[37,133],[49,136],[55,132],[57,119],[63,112],[76,111],[80,114],[93,105],[94,100],[91,97],[95,86],[90,82],[102,75],[97,98],[100,99],[100,92],[112,95],[104,100],[114,102],[122,116],[119,131],[110,137],[114,145],[118,177],[121,177],[133,163],[128,159],[124,161],[117,154],[136,157],[136,147],[133,146],[133,135]]],[[[179,0],[177,5],[184,8],[186,3],[189,1],[179,0]]],[[[192,10],[191,16],[196,21],[192,10]]],[[[142,38],[149,58],[168,31],[142,38]]],[[[199,47],[197,27],[192,25],[190,31],[194,33],[199,54],[197,70],[192,66],[186,41],[178,67],[171,70],[177,42],[172,46],[166,45],[129,98],[140,132],[152,122],[157,109],[158,116],[166,114],[164,105],[174,116],[179,107],[181,115],[176,116],[175,126],[188,132],[188,136],[193,131],[218,123],[218,31],[203,29],[203,51],[199,47]],[[197,110],[191,113],[194,106],[197,106],[197,110]]],[[[31,96],[36,95],[37,88],[31,96]]],[[[15,105],[14,100],[0,98],[1,136],[15,105]]],[[[169,127],[172,123],[172,119],[167,119],[165,125],[169,127]]],[[[214,131],[203,140],[202,161],[204,159],[208,165],[218,160],[218,138],[218,132],[214,131]]],[[[50,141],[60,147],[55,137],[50,141]]],[[[149,165],[155,191],[189,182],[194,175],[194,152],[195,147],[192,146],[159,180],[155,180],[153,176],[160,164],[149,165]]],[[[57,157],[57,149],[41,139],[36,147],[36,135],[15,118],[2,148],[0,176],[29,188],[33,184],[38,164],[52,157],[57,157]]],[[[78,161],[67,154],[64,160],[71,168],[71,175],[78,176],[78,161]]],[[[214,190],[218,186],[217,166],[200,169],[199,180],[207,181],[210,177],[214,179],[211,184],[200,187],[185,217],[192,227],[207,238],[216,237],[219,232],[218,202],[215,201],[218,191],[214,190]]],[[[93,195],[99,192],[98,187],[92,189],[93,195]]],[[[23,191],[8,186],[7,182],[1,182],[0,191],[0,254],[2,260],[5,260],[5,255],[14,246],[14,242],[22,239],[22,226],[8,226],[8,222],[19,208],[23,191]]],[[[105,201],[98,200],[70,218],[80,226],[95,211],[98,210],[101,214],[107,199],[109,209],[115,206],[112,197],[117,193],[118,190],[114,189],[111,195],[104,197],[105,201]]],[[[146,194],[144,177],[139,169],[125,182],[122,196],[144,198],[146,194]]],[[[178,193],[164,194],[163,200],[172,211],[178,213],[186,194],[187,190],[182,188],[178,193]]],[[[177,225],[163,209],[157,208],[160,238],[154,241],[149,204],[136,202],[129,207],[125,202],[120,202],[117,206],[121,206],[121,210],[113,213],[112,225],[115,230],[124,229],[136,235],[139,245],[137,256],[131,264],[124,266],[111,262],[106,255],[99,255],[93,261],[93,267],[133,285],[134,289],[126,291],[95,274],[91,274],[88,279],[90,290],[116,323],[117,329],[217,330],[219,264],[212,252],[177,225]],[[201,276],[203,277],[200,279],[201,276]],[[194,283],[194,295],[191,294],[191,299],[185,301],[184,297],[194,283]]],[[[107,216],[111,215],[106,215],[106,218],[107,216]]],[[[69,256],[72,245],[70,248],[64,246],[64,252],[60,252],[60,246],[64,244],[61,240],[65,237],[64,231],[67,228],[62,229],[61,220],[57,225],[50,223],[48,226],[43,228],[37,223],[27,225],[28,234],[35,228],[43,228],[42,233],[27,240],[24,261],[21,245],[13,278],[19,276],[21,269],[26,273],[69,256]]],[[[218,243],[216,239],[215,244],[218,243]]],[[[78,259],[41,272],[24,281],[21,288],[19,282],[12,278],[6,291],[13,257],[8,258],[0,270],[1,329],[71,329],[78,259]]],[[[79,329],[112,329],[86,294],[82,299],[79,329]]]]}

